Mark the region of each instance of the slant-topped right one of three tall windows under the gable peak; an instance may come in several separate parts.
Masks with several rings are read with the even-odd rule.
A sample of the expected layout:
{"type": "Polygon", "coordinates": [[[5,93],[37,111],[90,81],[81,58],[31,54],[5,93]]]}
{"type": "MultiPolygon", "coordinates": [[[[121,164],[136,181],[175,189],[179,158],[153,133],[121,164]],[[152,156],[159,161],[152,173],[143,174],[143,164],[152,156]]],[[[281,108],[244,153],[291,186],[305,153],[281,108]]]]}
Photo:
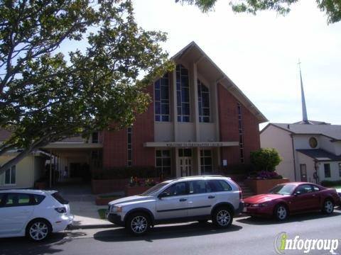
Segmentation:
{"type": "Polygon", "coordinates": [[[210,122],[210,90],[197,80],[197,102],[199,106],[199,122],[210,122]]]}

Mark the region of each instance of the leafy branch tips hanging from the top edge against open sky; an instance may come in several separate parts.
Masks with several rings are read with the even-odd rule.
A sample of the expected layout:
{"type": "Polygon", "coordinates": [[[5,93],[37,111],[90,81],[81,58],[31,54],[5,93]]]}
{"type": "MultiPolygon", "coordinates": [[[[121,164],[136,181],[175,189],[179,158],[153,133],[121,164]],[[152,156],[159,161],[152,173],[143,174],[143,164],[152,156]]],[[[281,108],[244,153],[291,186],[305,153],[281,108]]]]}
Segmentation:
{"type": "MultiPolygon", "coordinates": [[[[203,12],[211,11],[217,0],[175,0],[176,3],[194,4],[203,12]]],[[[291,4],[298,0],[235,0],[230,1],[229,5],[237,13],[247,12],[256,14],[257,11],[271,10],[286,15],[291,11],[291,4]]],[[[321,11],[327,14],[328,23],[336,23],[341,20],[341,1],[340,0],[316,0],[316,4],[321,11]]]]}

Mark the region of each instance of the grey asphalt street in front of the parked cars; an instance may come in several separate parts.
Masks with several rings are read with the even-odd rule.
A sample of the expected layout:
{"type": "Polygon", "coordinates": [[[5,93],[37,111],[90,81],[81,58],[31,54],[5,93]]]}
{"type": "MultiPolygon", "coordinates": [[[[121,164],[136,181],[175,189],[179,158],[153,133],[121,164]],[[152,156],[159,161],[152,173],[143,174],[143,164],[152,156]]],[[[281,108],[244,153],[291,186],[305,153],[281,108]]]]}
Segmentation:
{"type": "MultiPolygon", "coordinates": [[[[298,235],[304,245],[308,245],[306,239],[338,239],[334,254],[341,254],[340,209],[329,216],[319,212],[296,215],[281,223],[239,217],[229,229],[215,229],[210,222],[160,225],[139,238],[131,237],[122,228],[66,231],[39,244],[25,238],[6,238],[0,239],[0,254],[277,254],[274,243],[281,232],[286,232],[287,239],[298,235]]],[[[281,237],[276,247],[280,246],[281,237]]],[[[307,254],[331,254],[331,245],[326,247],[328,250],[317,250],[317,244],[307,254]]],[[[281,254],[305,253],[296,249],[281,254]]]]}

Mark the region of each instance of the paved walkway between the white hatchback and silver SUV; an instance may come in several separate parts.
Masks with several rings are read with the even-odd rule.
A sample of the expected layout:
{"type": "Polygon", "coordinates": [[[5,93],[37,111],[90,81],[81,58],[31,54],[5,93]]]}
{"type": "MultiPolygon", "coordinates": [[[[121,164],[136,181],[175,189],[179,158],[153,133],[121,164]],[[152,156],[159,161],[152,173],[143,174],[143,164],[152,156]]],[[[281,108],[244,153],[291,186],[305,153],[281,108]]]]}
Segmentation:
{"type": "Polygon", "coordinates": [[[99,218],[98,210],[107,209],[107,206],[94,203],[95,196],[91,193],[90,185],[57,186],[54,189],[70,203],[71,213],[75,216],[72,229],[115,227],[108,220],[99,218]]]}

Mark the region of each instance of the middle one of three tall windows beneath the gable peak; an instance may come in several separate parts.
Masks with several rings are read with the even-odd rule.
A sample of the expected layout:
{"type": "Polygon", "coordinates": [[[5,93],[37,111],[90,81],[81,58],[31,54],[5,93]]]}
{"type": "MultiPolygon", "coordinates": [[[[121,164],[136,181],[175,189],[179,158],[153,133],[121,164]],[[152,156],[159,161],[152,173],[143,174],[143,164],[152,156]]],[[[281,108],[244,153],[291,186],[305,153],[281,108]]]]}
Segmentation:
{"type": "Polygon", "coordinates": [[[178,122],[190,122],[190,82],[182,64],[176,66],[176,102],[178,122]]]}

